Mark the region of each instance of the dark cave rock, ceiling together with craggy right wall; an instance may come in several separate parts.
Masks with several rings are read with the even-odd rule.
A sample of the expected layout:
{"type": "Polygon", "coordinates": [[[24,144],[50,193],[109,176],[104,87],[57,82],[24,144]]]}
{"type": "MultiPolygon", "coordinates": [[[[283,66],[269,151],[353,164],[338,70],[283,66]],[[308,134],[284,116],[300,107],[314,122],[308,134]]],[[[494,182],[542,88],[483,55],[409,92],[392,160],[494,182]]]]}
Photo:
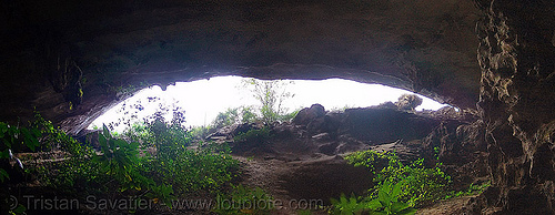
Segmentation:
{"type": "Polygon", "coordinates": [[[8,1],[0,121],[69,134],[132,92],[220,75],[342,78],[475,113],[477,214],[555,213],[555,2],[8,1]]]}

